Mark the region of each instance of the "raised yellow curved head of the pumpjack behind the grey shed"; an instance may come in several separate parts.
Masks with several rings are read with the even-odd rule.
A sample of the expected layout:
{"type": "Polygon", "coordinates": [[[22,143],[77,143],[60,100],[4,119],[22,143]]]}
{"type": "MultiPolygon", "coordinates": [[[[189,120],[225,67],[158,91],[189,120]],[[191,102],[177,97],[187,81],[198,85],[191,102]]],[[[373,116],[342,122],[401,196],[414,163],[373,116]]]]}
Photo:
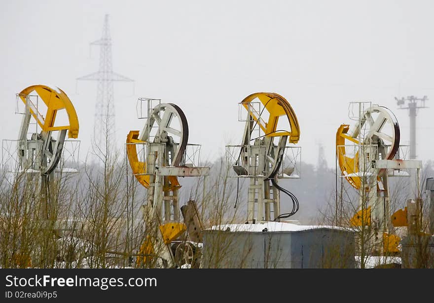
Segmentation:
{"type": "Polygon", "coordinates": [[[244,98],[241,104],[243,104],[246,110],[249,111],[248,103],[252,102],[256,98],[261,101],[262,105],[270,114],[268,122],[265,122],[259,119],[260,113],[254,113],[250,111],[250,115],[252,116],[253,120],[258,123],[262,131],[264,131],[265,136],[288,136],[289,143],[297,143],[300,139],[300,126],[298,124],[297,116],[295,115],[295,112],[289,102],[279,94],[261,92],[247,96],[244,98]],[[277,131],[277,123],[279,121],[279,117],[282,116],[286,116],[288,118],[289,125],[291,127],[290,131],[277,131]]]}

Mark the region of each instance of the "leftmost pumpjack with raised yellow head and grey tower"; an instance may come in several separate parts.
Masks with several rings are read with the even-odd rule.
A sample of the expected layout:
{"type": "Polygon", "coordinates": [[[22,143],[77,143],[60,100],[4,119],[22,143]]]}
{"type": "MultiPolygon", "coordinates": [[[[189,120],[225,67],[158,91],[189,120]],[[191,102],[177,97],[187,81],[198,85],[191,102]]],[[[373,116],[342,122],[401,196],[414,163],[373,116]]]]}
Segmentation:
{"type": "Polygon", "coordinates": [[[57,199],[55,172],[70,173],[64,169],[64,145],[66,136],[78,137],[78,117],[71,100],[58,87],[32,85],[17,94],[17,101],[24,103],[20,133],[18,136],[18,157],[15,167],[16,178],[26,174],[26,182],[39,199],[42,221],[53,224],[57,220],[57,199]],[[53,101],[56,100],[56,101],[53,101]],[[46,110],[44,110],[46,108],[46,110]],[[65,111],[68,123],[56,121],[58,113],[65,111]],[[35,126],[35,127],[34,127],[35,126]],[[39,131],[40,129],[40,131],[39,131]]]}

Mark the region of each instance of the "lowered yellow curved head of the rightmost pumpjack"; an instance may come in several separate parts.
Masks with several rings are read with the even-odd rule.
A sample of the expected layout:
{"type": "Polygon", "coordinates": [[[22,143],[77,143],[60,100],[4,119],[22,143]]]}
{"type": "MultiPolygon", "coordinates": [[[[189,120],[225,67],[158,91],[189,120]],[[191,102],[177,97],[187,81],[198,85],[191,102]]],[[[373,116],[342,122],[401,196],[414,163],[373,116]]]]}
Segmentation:
{"type": "MultiPolygon", "coordinates": [[[[354,157],[348,157],[345,151],[345,139],[351,140],[356,144],[359,143],[357,139],[347,135],[349,129],[350,126],[348,124],[341,124],[336,132],[336,156],[343,176],[359,173],[359,151],[356,152],[354,157]]],[[[346,176],[345,179],[347,179],[352,187],[360,189],[360,177],[346,176]]]]}

